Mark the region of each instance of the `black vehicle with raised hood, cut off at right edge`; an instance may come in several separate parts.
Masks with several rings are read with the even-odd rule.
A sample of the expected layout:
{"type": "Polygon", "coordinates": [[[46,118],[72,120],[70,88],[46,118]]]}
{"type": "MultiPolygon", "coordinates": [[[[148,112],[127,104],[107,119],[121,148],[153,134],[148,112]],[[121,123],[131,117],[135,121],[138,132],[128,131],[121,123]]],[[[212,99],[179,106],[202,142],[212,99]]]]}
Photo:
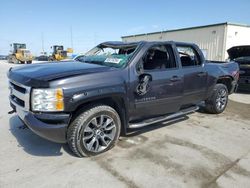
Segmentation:
{"type": "Polygon", "coordinates": [[[250,91],[250,45],[234,46],[228,51],[229,59],[240,67],[239,90],[250,91]]]}

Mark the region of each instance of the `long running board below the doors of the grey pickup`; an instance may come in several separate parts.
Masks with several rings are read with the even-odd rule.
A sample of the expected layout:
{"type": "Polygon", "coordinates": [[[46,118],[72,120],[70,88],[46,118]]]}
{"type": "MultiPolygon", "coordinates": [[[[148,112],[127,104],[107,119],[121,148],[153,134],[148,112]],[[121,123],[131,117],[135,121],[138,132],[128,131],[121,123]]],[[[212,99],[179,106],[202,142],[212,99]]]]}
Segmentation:
{"type": "Polygon", "coordinates": [[[181,110],[179,112],[176,112],[174,114],[171,114],[171,115],[160,116],[160,117],[157,117],[157,118],[147,119],[147,120],[139,122],[139,123],[129,124],[129,128],[135,129],[135,128],[144,127],[144,126],[147,126],[147,125],[150,125],[150,124],[155,124],[155,123],[159,123],[159,122],[163,122],[163,121],[168,121],[168,120],[171,120],[171,119],[174,119],[174,118],[186,115],[186,114],[193,113],[193,112],[195,112],[197,110],[199,110],[199,107],[198,106],[193,106],[193,107],[190,107],[190,108],[183,109],[183,110],[181,110]]]}

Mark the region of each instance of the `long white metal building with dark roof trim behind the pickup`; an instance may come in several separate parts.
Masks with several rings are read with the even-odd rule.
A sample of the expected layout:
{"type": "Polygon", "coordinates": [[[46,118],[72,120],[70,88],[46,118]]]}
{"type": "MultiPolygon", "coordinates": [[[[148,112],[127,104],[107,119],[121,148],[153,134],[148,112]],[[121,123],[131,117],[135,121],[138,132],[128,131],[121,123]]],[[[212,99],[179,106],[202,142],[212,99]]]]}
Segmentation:
{"type": "Polygon", "coordinates": [[[167,30],[123,36],[124,42],[180,41],[197,44],[208,60],[225,61],[227,49],[237,45],[250,45],[250,25],[219,23],[199,27],[167,30]]]}

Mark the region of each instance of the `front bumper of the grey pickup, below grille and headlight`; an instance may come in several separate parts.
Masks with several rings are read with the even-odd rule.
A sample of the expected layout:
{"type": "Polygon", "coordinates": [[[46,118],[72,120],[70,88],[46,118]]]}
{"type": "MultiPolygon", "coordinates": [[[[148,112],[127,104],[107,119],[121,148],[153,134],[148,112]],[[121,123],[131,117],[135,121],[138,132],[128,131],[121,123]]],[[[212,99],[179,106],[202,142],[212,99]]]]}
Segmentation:
{"type": "Polygon", "coordinates": [[[37,135],[56,143],[66,143],[69,114],[35,114],[11,103],[19,118],[37,135]]]}

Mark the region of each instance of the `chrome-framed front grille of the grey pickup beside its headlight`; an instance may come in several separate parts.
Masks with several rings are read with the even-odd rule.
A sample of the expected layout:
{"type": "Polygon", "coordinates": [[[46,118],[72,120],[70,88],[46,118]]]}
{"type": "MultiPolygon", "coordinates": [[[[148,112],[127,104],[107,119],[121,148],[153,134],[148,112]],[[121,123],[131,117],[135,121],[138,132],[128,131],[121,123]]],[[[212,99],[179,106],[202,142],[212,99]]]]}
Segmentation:
{"type": "Polygon", "coordinates": [[[28,111],[30,108],[30,87],[9,80],[10,102],[16,107],[28,111]]]}

